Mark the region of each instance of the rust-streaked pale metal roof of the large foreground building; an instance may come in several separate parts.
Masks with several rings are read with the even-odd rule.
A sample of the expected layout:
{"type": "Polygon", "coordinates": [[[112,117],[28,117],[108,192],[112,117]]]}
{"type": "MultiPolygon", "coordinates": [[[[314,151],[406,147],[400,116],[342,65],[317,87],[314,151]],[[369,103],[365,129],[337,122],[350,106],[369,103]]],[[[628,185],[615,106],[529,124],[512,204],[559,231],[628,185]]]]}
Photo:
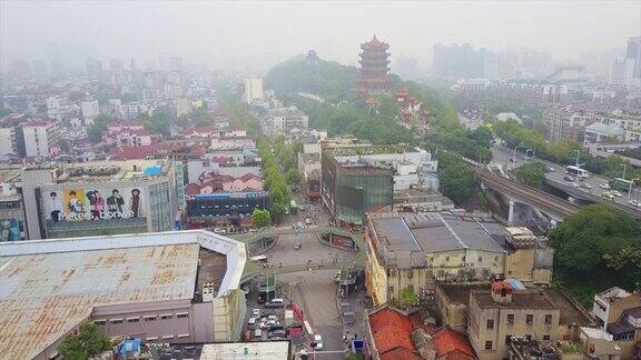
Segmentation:
{"type": "Polygon", "coordinates": [[[0,257],[0,359],[36,357],[95,307],[191,299],[199,249],[191,242],[0,257]]]}

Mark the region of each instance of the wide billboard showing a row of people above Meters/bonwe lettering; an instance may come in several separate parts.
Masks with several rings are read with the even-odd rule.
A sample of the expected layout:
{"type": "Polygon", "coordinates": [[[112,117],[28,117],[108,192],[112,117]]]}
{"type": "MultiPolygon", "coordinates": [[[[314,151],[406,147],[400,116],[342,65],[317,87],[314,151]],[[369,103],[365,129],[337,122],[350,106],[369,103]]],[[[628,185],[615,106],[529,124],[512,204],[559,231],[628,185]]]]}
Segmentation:
{"type": "Polygon", "coordinates": [[[142,190],[77,189],[47,191],[45,194],[46,219],[59,221],[96,221],[144,218],[142,190]]]}

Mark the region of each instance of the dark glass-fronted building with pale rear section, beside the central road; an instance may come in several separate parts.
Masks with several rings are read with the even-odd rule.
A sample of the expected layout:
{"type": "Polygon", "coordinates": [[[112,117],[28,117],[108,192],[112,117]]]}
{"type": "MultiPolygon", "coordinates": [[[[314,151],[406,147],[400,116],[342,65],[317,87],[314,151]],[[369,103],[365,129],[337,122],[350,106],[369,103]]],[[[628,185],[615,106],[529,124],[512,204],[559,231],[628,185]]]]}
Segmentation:
{"type": "Polygon", "coordinates": [[[403,144],[329,148],[320,164],[325,206],[338,222],[355,226],[365,212],[392,208],[394,191],[434,184],[438,167],[430,152],[403,144]]]}

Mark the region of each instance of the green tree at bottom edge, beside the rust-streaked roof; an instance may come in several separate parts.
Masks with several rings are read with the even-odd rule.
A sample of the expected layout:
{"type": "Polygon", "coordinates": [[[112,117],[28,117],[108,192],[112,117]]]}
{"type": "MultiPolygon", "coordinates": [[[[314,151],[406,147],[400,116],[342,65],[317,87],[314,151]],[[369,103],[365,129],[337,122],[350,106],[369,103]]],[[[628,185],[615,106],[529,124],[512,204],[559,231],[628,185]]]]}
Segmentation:
{"type": "Polygon", "coordinates": [[[67,337],[58,352],[68,360],[85,360],[109,350],[110,342],[96,324],[85,322],[80,326],[78,334],[67,337]]]}

